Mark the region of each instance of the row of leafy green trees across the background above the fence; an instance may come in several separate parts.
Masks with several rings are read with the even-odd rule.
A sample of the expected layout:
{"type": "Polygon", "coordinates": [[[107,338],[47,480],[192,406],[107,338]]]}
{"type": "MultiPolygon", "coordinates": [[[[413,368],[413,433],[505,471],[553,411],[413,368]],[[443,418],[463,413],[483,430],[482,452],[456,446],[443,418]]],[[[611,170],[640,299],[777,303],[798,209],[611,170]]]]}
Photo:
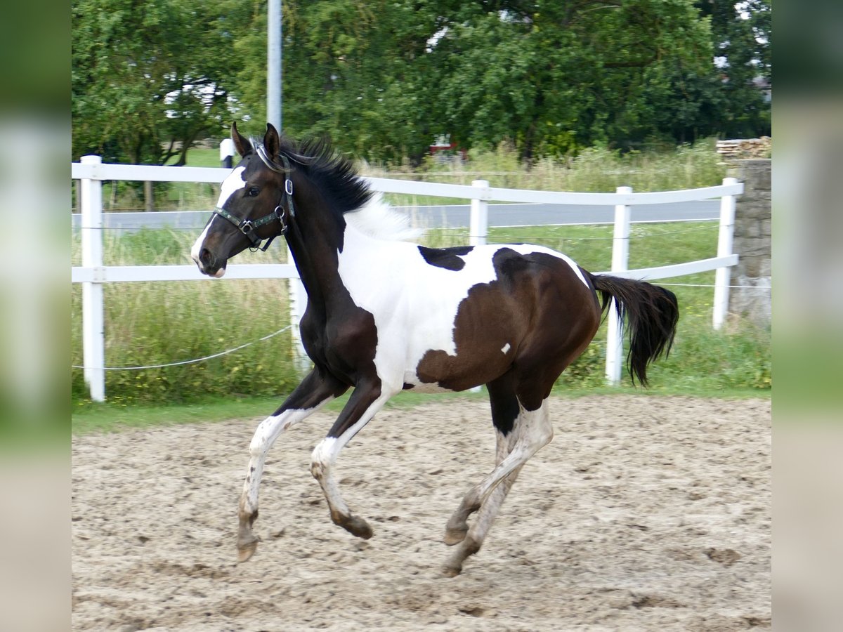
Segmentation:
{"type": "MultiPolygon", "coordinates": [[[[524,158],[754,133],[769,0],[285,0],[283,128],[368,160],[432,138],[524,158]],[[715,56],[726,65],[715,67],[715,56]],[[728,79],[725,81],[724,79],[728,79]]],[[[183,161],[266,121],[266,2],[74,0],[74,155],[183,161]]],[[[766,117],[766,118],[765,118],[766,117]]]]}

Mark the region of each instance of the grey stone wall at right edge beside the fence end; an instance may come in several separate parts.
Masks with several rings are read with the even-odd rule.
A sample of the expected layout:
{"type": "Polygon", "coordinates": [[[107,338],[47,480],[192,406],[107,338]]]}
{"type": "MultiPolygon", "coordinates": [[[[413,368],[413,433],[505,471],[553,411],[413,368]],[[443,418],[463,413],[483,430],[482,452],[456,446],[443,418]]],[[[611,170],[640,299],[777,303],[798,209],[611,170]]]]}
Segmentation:
{"type": "Polygon", "coordinates": [[[771,321],[771,160],[733,162],[734,176],[744,183],[735,207],[733,252],[738,265],[732,268],[733,287],[729,312],[766,325],[771,321]],[[756,289],[757,288],[757,289],[756,289]]]}

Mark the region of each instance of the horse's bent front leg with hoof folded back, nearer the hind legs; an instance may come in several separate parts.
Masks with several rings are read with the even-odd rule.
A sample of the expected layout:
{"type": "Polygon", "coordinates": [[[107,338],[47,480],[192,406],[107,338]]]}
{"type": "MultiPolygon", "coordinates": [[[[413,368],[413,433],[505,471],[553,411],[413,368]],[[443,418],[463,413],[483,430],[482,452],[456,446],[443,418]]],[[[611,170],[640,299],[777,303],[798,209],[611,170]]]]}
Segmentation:
{"type": "Polygon", "coordinates": [[[333,468],[341,449],[368,424],[391,396],[392,393],[384,394],[380,385],[358,385],[327,437],[317,444],[311,457],[310,471],[325,494],[330,519],[348,533],[367,540],[372,537],[372,528],[361,517],[353,515],[342,500],[333,468]]]}

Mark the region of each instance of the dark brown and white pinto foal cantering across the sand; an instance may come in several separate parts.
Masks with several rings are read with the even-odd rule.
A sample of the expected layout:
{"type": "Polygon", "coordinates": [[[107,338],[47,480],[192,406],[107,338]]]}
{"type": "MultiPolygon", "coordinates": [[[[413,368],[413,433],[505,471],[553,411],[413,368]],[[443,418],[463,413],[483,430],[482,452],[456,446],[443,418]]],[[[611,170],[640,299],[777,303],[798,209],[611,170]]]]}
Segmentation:
{"type": "Polygon", "coordinates": [[[266,250],[283,235],[307,291],[299,329],[313,362],[250,442],[238,560],[249,560],[257,548],[252,528],[260,478],[282,432],[352,389],[314,448],[311,473],[331,520],[368,539],[372,528],[343,501],[333,474],[342,447],[401,391],[486,385],[496,465],[446,524],[444,542],[456,549],[443,572],[458,575],[480,550],[524,463],[553,437],[550,390],[591,342],[611,300],[630,332],[633,383],[637,378],[646,386],[648,364],[673,344],[676,297],[644,281],[591,274],[538,245],[414,244],[409,239],[417,233],[406,217],[375,195],[330,143],[294,142],[270,124],[262,141],[247,140],[236,123],[231,137],[241,159],[223,181],[191,258],[202,273],[220,277],[234,255],[266,250]]]}

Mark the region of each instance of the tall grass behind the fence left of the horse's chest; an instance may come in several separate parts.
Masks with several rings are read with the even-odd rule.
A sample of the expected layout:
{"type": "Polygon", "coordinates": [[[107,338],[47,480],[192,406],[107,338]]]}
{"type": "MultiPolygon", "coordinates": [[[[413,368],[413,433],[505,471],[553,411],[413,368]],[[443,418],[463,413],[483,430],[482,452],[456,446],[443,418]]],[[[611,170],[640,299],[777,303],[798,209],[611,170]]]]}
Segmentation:
{"type": "MultiPolygon", "coordinates": [[[[185,263],[195,235],[141,231],[105,240],[106,265],[185,263]]],[[[274,259],[282,260],[284,249],[274,259]]],[[[250,254],[250,253],[246,253],[250,254]]],[[[252,255],[254,256],[254,255],[252,255]]],[[[74,243],[78,258],[78,240],[74,243]]],[[[289,324],[287,280],[105,284],[108,367],[138,367],[211,356],[289,324]]],[[[72,287],[72,365],[82,366],[81,288],[72,287]]],[[[105,392],[123,404],[196,402],[209,396],[286,394],[298,382],[289,331],[207,362],[106,371],[105,392]]],[[[88,397],[80,369],[72,397],[88,397]]]]}

